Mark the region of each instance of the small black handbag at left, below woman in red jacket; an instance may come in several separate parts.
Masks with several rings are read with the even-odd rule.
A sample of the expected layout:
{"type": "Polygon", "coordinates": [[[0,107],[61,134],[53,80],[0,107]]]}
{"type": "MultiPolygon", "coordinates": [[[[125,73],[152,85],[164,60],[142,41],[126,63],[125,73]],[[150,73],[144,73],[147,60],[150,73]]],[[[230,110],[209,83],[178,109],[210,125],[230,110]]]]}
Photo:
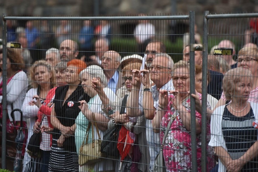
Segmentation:
{"type": "MultiPolygon", "coordinates": [[[[45,115],[42,116],[40,126],[42,124],[43,118],[45,115]]],[[[33,133],[31,136],[28,146],[27,146],[27,152],[31,157],[41,157],[41,150],[40,150],[40,141],[41,141],[41,132],[39,133],[33,133]]]]}

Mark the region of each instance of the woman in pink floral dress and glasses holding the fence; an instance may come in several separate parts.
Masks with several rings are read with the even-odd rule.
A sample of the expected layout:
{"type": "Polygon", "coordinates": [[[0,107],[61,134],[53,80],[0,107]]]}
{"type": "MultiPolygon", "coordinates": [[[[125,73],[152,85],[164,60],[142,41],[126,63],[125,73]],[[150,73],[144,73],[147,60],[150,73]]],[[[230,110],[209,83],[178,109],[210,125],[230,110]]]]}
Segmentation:
{"type": "MultiPolygon", "coordinates": [[[[168,96],[167,90],[160,90],[159,106],[152,120],[154,132],[160,132],[160,141],[163,140],[164,131],[169,127],[170,120],[174,120],[168,128],[163,147],[167,171],[192,170],[190,132],[193,129],[197,134],[197,170],[201,171],[201,114],[196,111],[196,128],[191,128],[190,98],[187,93],[190,89],[189,68],[189,64],[185,61],[174,64],[172,79],[175,91],[170,91],[171,95],[168,96]]],[[[201,98],[200,93],[197,95],[201,98]]],[[[207,153],[211,154],[210,149],[207,153]]],[[[210,171],[212,166],[212,157],[207,157],[207,171],[210,171]]]]}

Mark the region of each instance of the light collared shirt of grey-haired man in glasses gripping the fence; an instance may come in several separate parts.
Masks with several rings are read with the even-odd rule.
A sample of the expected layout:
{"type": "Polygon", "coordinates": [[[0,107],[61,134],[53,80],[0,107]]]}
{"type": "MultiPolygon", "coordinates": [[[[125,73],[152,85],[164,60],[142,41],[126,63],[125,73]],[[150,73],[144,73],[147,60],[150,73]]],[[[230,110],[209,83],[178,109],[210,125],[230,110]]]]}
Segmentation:
{"type": "MultiPolygon", "coordinates": [[[[172,81],[173,80],[171,79],[160,89],[166,89],[167,91],[174,90],[174,85],[172,81]]],[[[154,100],[153,106],[157,109],[159,105],[159,92],[157,91],[156,85],[152,86],[151,88],[152,98],[154,100]]],[[[149,144],[149,151],[151,155],[150,171],[152,171],[155,162],[155,157],[157,156],[157,154],[159,154],[160,151],[160,134],[154,133],[151,121],[152,120],[146,119],[146,138],[147,143],[149,144]]]]}

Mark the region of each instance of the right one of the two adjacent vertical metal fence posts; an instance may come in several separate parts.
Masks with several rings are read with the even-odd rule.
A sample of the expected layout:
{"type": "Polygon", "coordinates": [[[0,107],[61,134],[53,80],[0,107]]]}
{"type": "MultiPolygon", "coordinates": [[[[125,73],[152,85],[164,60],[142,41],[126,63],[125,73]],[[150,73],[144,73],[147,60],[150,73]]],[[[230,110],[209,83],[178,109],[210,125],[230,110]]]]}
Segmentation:
{"type": "MultiPolygon", "coordinates": [[[[209,11],[204,11],[203,15],[203,66],[202,66],[202,172],[207,170],[207,62],[208,62],[208,20],[206,15],[209,14],[209,11]]],[[[208,164],[209,165],[209,164],[208,164]]]]}

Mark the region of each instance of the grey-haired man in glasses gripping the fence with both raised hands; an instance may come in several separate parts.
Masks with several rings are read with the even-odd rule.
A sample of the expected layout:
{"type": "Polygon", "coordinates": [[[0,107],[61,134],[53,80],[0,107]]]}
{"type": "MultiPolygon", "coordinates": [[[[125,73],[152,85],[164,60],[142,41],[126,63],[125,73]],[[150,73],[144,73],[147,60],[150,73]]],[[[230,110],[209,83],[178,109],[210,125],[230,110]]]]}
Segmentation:
{"type": "Polygon", "coordinates": [[[158,89],[174,90],[171,79],[173,65],[174,62],[172,58],[168,54],[161,53],[156,54],[150,66],[150,71],[146,69],[140,71],[134,69],[132,71],[133,86],[126,105],[127,115],[130,117],[139,116],[142,111],[145,114],[145,118],[147,119],[146,139],[149,144],[151,156],[150,171],[153,169],[155,157],[159,153],[160,148],[160,136],[159,133],[154,133],[151,121],[159,105],[158,89]],[[154,86],[151,86],[150,78],[154,82],[154,86]],[[141,83],[143,91],[140,93],[141,83]]]}

